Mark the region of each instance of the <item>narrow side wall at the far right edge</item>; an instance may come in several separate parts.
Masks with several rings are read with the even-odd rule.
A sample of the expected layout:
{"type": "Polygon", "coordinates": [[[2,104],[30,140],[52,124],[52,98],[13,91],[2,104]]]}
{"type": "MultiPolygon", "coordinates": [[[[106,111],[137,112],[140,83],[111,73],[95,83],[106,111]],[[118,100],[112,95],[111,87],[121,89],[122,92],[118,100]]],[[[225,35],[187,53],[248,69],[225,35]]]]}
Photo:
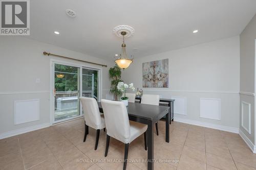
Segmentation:
{"type": "MultiPolygon", "coordinates": [[[[249,112],[240,110],[240,133],[247,140],[250,148],[256,148],[255,145],[255,38],[256,38],[256,15],[248,23],[244,31],[240,35],[240,105],[242,102],[250,104],[250,116],[249,112]],[[242,118],[246,119],[246,122],[250,122],[251,133],[246,130],[248,125],[242,126],[242,118]]],[[[247,106],[248,107],[248,106],[247,106]]],[[[252,149],[256,152],[255,149],[252,149]]]]}

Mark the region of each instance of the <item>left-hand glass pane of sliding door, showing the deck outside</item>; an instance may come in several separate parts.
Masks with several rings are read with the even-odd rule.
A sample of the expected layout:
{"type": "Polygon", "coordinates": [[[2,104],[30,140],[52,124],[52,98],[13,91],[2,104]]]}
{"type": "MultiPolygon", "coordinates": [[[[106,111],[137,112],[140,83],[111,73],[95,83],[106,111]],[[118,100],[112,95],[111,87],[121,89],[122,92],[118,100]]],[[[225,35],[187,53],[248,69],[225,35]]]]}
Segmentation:
{"type": "Polygon", "coordinates": [[[78,116],[79,67],[54,65],[54,120],[78,116]]]}

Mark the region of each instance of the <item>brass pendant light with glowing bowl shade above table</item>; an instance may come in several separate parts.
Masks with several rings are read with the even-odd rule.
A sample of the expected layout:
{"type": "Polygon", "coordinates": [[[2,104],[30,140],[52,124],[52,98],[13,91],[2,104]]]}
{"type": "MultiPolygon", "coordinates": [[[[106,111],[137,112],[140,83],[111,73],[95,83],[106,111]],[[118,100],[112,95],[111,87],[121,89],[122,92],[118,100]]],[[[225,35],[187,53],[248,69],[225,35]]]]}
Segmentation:
{"type": "Polygon", "coordinates": [[[125,50],[126,45],[124,43],[124,36],[126,35],[126,32],[122,31],[121,35],[123,36],[123,43],[121,45],[122,52],[120,54],[120,57],[117,60],[115,60],[115,62],[120,68],[125,69],[130,66],[130,64],[133,62],[133,59],[127,58],[127,55],[126,55],[126,50],[125,50]]]}

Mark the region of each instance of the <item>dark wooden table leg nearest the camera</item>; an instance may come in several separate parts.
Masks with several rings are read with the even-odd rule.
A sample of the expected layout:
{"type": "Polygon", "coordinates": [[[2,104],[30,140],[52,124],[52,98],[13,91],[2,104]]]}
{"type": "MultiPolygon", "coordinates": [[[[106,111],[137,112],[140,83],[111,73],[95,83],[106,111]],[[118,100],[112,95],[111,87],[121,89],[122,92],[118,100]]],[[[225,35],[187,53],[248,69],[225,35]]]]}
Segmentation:
{"type": "Polygon", "coordinates": [[[148,120],[147,122],[147,169],[154,169],[154,130],[153,130],[153,122],[152,120],[148,120]]]}

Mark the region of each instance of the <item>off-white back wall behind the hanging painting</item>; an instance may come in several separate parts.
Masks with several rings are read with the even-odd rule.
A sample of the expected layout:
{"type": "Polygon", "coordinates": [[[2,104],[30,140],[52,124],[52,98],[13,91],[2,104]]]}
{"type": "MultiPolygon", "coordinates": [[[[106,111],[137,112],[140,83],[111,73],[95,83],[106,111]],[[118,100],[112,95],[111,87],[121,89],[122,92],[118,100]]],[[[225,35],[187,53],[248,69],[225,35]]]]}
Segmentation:
{"type": "MultiPolygon", "coordinates": [[[[166,58],[169,59],[169,88],[143,88],[144,93],[156,93],[168,99],[182,97],[178,98],[180,106],[176,112],[186,111],[186,115],[175,114],[177,121],[238,133],[239,37],[135,58],[134,63],[122,72],[122,79],[142,88],[142,63],[166,58]],[[220,120],[200,117],[200,98],[221,100],[220,120]]],[[[215,103],[215,100],[207,101],[210,105],[215,103]]],[[[211,113],[215,109],[210,108],[209,117],[219,113],[211,113]]]]}

